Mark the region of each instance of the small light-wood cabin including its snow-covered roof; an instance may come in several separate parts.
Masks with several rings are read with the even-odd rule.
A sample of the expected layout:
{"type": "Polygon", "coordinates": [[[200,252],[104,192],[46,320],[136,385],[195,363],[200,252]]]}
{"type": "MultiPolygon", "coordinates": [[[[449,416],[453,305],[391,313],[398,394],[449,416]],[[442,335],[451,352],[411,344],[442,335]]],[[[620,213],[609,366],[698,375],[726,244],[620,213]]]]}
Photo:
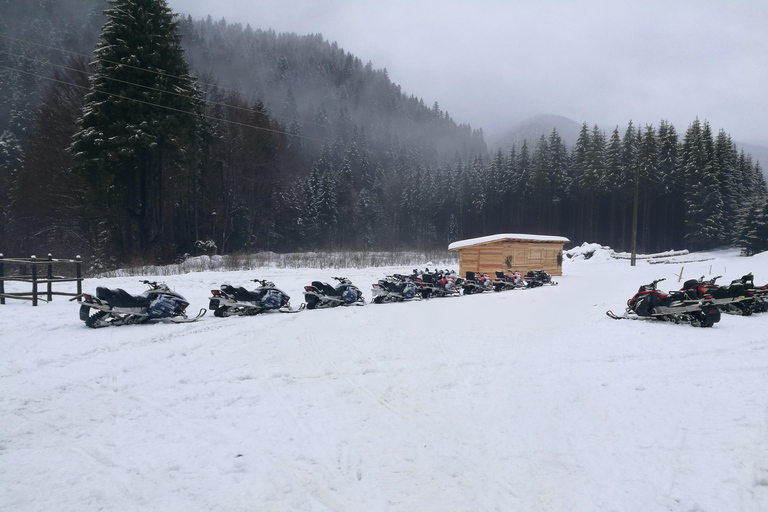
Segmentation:
{"type": "Polygon", "coordinates": [[[459,274],[468,270],[487,273],[497,270],[544,270],[550,275],[563,275],[563,246],[570,243],[562,236],[500,234],[453,242],[449,251],[459,251],[459,274]]]}

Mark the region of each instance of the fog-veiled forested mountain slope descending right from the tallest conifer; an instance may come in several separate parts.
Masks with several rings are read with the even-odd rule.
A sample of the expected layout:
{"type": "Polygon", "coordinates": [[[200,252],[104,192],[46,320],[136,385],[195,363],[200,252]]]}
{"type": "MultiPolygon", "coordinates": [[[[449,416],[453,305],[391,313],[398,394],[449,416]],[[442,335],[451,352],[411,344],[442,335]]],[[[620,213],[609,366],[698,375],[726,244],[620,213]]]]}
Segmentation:
{"type": "Polygon", "coordinates": [[[309,147],[348,138],[357,127],[374,148],[418,148],[425,163],[487,150],[481,131],[457,123],[437,103],[407,95],[385,69],[320,34],[254,30],[210,17],[188,17],[180,30],[193,70],[248,102],[261,101],[309,147]]]}

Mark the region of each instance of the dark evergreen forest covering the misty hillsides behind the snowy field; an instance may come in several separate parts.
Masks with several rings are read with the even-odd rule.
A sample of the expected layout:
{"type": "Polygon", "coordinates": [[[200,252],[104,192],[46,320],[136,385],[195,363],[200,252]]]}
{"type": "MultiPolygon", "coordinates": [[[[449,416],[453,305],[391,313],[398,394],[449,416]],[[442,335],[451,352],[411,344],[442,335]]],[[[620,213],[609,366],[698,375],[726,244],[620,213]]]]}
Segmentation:
{"type": "Polygon", "coordinates": [[[628,250],[635,194],[640,252],[768,250],[761,165],[706,120],[585,122],[572,147],[553,129],[489,151],[482,129],[320,34],[193,20],[165,0],[0,11],[6,255],[107,268],[515,232],[628,250]]]}

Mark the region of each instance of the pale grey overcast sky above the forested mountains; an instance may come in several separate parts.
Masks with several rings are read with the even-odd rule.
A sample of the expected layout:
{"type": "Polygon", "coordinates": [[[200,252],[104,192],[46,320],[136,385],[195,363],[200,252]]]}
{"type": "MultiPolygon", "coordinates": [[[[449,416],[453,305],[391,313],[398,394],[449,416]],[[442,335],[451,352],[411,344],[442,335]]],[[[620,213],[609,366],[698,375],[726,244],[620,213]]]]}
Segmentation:
{"type": "Polygon", "coordinates": [[[168,0],[194,18],[321,33],[490,139],[557,114],[694,118],[768,145],[766,0],[168,0]]]}

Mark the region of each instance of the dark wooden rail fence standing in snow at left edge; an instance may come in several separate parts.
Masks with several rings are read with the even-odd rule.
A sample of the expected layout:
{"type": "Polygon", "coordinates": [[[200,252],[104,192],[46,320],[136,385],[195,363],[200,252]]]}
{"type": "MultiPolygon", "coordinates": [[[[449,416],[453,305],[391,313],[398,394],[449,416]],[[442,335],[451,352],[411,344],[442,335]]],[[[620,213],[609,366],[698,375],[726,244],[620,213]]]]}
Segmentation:
{"type": "Polygon", "coordinates": [[[69,297],[79,297],[83,293],[83,270],[82,260],[80,256],[76,256],[73,260],[61,260],[54,259],[53,256],[48,254],[47,258],[39,259],[35,256],[30,258],[6,258],[0,254],[0,305],[5,304],[5,299],[21,299],[32,300],[32,305],[37,306],[38,300],[50,302],[53,300],[54,295],[66,295],[69,297]],[[8,264],[19,267],[19,272],[13,275],[6,276],[6,268],[8,264]],[[75,277],[64,277],[53,275],[53,266],[57,265],[57,268],[61,266],[74,266],[75,277]],[[27,266],[30,267],[31,273],[27,273],[27,266]],[[44,276],[41,277],[39,267],[43,267],[44,276]],[[6,292],[5,283],[9,281],[21,281],[32,284],[31,292],[6,292]],[[53,291],[54,283],[77,283],[76,293],[67,292],[55,292],[53,291]],[[40,285],[45,285],[45,290],[40,291],[40,285]],[[43,298],[45,297],[45,298],[43,298]]]}

